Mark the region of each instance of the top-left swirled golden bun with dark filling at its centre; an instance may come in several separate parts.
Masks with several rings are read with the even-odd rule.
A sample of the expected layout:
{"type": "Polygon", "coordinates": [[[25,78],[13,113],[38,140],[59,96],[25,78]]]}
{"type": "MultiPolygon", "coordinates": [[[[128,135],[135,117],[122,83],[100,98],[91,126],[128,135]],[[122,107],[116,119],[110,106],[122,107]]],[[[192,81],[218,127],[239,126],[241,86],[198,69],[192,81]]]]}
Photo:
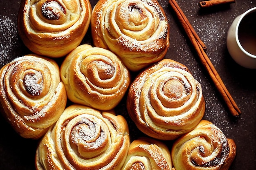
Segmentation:
{"type": "Polygon", "coordinates": [[[91,12],[89,0],[22,0],[20,38],[33,53],[62,57],[83,40],[91,12]]]}

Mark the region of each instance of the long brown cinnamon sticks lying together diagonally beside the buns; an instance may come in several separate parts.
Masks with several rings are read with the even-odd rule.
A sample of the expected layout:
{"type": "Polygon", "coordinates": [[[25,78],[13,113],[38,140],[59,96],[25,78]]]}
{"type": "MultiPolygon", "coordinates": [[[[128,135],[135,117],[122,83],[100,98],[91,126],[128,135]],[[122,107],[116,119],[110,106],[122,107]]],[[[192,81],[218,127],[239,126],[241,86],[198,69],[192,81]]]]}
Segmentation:
{"type": "Polygon", "coordinates": [[[207,72],[209,73],[213,83],[215,84],[216,88],[218,89],[220,95],[224,99],[225,103],[227,104],[227,107],[229,108],[229,111],[232,115],[238,116],[241,114],[240,109],[238,108],[236,102],[230,95],[229,91],[227,90],[225,84],[222,82],[222,79],[220,78],[220,75],[214,68],[213,64],[211,63],[211,60],[205,53],[206,46],[200,40],[199,36],[189,23],[188,19],[186,18],[186,15],[183,13],[183,11],[178,6],[177,2],[175,0],[169,0],[169,4],[173,8],[174,12],[177,15],[178,20],[182,24],[184,31],[188,35],[192,45],[195,48],[195,51],[198,53],[198,56],[200,58],[200,61],[202,62],[202,65],[205,67],[207,72]]]}

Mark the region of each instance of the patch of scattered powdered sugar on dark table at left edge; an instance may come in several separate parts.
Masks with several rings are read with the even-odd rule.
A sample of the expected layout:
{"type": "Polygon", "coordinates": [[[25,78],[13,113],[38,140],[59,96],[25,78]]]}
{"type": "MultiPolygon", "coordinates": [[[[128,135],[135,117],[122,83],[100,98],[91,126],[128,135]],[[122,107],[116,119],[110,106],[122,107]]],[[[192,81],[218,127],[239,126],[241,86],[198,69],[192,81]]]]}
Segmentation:
{"type": "Polygon", "coordinates": [[[18,41],[16,22],[0,15],[0,64],[7,64],[12,59],[11,51],[18,41]]]}

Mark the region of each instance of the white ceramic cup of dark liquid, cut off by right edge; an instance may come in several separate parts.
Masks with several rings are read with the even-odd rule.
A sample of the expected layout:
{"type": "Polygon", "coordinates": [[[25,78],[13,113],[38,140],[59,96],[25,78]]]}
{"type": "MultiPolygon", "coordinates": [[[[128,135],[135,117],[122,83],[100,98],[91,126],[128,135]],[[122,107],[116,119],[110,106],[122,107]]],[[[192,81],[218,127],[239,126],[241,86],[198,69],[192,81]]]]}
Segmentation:
{"type": "Polygon", "coordinates": [[[236,63],[256,68],[256,7],[236,17],[227,33],[227,49],[236,63]],[[254,30],[252,30],[254,29],[254,30]]]}

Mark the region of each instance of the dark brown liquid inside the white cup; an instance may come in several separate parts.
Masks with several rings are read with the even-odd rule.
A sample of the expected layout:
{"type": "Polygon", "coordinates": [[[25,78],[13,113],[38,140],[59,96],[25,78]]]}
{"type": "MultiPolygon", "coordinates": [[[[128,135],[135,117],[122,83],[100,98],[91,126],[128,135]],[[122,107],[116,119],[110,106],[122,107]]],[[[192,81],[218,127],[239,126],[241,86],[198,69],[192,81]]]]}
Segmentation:
{"type": "Polygon", "coordinates": [[[241,20],[238,39],[245,51],[256,55],[256,12],[249,13],[241,20]]]}

